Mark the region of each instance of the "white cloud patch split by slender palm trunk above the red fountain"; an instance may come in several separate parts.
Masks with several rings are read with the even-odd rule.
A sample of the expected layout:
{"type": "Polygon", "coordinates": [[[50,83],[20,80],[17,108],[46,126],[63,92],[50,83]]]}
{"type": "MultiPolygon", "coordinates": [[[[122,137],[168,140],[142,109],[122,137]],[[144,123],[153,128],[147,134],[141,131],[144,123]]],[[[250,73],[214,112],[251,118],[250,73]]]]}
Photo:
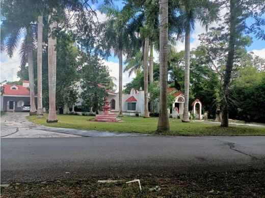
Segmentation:
{"type": "MultiPolygon", "coordinates": [[[[113,61],[107,61],[107,60],[102,60],[103,64],[108,66],[110,69],[110,75],[112,77],[115,77],[116,80],[114,80],[114,83],[119,87],[119,63],[113,62],[113,61]]],[[[123,65],[124,66],[124,65],[123,65]]],[[[122,74],[122,86],[124,86],[126,83],[130,82],[135,78],[135,74],[131,74],[129,77],[128,72],[123,72],[122,74]]]]}

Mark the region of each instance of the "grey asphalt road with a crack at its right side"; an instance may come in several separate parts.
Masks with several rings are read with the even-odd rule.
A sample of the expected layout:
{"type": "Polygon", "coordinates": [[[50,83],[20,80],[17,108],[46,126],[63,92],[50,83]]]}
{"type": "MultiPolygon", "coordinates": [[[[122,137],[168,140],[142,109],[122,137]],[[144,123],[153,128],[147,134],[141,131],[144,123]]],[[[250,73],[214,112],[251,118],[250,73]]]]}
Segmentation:
{"type": "Polygon", "coordinates": [[[141,178],[250,167],[265,168],[264,136],[1,139],[1,183],[141,178]]]}

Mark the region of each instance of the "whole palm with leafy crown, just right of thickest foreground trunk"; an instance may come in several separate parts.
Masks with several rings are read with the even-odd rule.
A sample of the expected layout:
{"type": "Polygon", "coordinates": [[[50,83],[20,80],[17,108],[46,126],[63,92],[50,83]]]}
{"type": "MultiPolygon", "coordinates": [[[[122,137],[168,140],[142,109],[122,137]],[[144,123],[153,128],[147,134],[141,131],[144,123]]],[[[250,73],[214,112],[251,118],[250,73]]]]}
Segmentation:
{"type": "Polygon", "coordinates": [[[178,33],[185,32],[185,80],[184,80],[184,114],[182,122],[189,122],[189,90],[190,90],[190,37],[191,30],[195,28],[195,22],[201,22],[202,26],[208,25],[217,19],[218,7],[209,0],[184,0],[179,2],[180,10],[177,22],[178,33]]]}

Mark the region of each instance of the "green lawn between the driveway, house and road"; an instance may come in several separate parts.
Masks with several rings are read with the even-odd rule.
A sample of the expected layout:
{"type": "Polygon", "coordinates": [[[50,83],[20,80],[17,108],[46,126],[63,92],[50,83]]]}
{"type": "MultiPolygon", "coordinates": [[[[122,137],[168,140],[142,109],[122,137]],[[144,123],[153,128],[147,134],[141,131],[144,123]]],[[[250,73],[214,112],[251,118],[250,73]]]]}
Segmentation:
{"type": "MultiPolygon", "coordinates": [[[[28,119],[33,123],[45,126],[157,134],[156,126],[158,118],[124,116],[122,117],[123,122],[88,121],[93,118],[93,116],[58,115],[57,118],[59,120],[57,123],[47,123],[47,115],[44,115],[43,118],[28,116],[28,119]]],[[[169,122],[170,131],[163,135],[265,135],[265,127],[230,126],[228,128],[223,128],[218,124],[204,124],[198,122],[183,123],[176,119],[169,119],[169,122]]]]}

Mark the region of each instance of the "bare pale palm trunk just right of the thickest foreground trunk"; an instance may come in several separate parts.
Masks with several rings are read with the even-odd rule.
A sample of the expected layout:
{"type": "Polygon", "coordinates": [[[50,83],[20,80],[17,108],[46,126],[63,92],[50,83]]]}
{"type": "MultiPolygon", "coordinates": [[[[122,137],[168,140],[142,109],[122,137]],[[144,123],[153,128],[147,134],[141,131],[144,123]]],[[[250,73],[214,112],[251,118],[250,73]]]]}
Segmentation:
{"type": "Polygon", "coordinates": [[[184,113],[182,122],[190,122],[189,119],[189,91],[190,91],[190,27],[187,27],[185,35],[185,81],[184,81],[184,113]]]}

